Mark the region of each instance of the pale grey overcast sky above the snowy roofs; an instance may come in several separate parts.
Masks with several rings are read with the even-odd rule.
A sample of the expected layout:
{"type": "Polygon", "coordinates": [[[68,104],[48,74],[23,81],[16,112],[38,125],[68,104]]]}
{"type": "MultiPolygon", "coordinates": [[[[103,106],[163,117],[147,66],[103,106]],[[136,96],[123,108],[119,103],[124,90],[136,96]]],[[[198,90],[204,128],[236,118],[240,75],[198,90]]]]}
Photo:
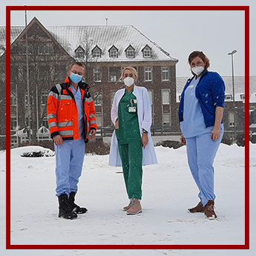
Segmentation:
{"type": "MultiPolygon", "coordinates": [[[[188,5],[187,0],[140,1],[74,1],[79,5],[188,5]]],[[[5,5],[47,5],[42,0],[9,0],[0,3],[0,25],[5,26],[5,5]]],[[[50,5],[74,5],[72,1],[51,0],[50,5]]],[[[193,5],[249,5],[250,6],[250,75],[256,75],[256,4],[255,0],[194,0],[193,5]]],[[[191,76],[187,58],[193,50],[203,50],[211,66],[222,76],[232,75],[231,56],[234,54],[234,74],[244,75],[244,12],[243,11],[28,11],[30,22],[36,16],[45,27],[51,25],[132,24],[145,36],[179,59],[177,76],[191,76]]],[[[12,25],[24,25],[24,11],[11,12],[12,25]]]]}

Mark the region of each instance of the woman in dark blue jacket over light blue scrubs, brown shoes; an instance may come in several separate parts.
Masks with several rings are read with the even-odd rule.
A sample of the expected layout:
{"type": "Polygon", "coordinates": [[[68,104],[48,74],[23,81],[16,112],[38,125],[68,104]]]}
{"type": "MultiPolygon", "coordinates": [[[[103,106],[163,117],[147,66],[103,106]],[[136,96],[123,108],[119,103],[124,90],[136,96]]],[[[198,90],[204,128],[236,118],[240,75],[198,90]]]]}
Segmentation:
{"type": "Polygon", "coordinates": [[[225,85],[216,72],[209,72],[209,59],[202,51],[188,56],[191,73],[180,99],[179,120],[186,144],[188,165],[199,188],[200,203],[189,212],[203,212],[213,220],[214,211],[214,157],[223,137],[223,108],[225,85]]]}

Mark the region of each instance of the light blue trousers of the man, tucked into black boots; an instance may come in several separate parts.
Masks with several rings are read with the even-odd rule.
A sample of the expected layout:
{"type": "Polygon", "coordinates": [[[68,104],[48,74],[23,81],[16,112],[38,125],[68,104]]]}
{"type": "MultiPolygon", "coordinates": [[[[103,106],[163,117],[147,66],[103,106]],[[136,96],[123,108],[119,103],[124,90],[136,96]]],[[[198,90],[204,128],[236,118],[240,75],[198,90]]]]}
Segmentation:
{"type": "Polygon", "coordinates": [[[85,157],[84,140],[65,140],[54,145],[56,154],[56,196],[77,191],[85,157]]]}

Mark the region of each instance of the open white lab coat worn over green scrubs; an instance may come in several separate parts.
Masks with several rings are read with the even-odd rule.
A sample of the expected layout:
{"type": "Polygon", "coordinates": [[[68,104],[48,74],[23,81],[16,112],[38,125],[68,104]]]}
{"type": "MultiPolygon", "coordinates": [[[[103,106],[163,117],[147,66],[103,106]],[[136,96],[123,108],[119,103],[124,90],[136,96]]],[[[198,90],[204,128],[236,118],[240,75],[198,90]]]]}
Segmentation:
{"type": "MultiPolygon", "coordinates": [[[[114,96],[113,106],[111,109],[111,120],[116,123],[118,118],[118,105],[120,99],[125,93],[125,88],[116,91],[114,96]]],[[[157,163],[156,152],[154,151],[154,144],[151,138],[151,100],[148,95],[148,90],[145,87],[138,87],[134,85],[134,96],[137,98],[137,114],[140,125],[140,132],[142,135],[142,128],[148,131],[148,144],[142,149],[142,165],[152,165],[157,163]]],[[[109,155],[109,165],[122,166],[122,162],[119,155],[118,142],[116,139],[116,133],[114,131],[111,138],[111,151],[109,155]]]]}

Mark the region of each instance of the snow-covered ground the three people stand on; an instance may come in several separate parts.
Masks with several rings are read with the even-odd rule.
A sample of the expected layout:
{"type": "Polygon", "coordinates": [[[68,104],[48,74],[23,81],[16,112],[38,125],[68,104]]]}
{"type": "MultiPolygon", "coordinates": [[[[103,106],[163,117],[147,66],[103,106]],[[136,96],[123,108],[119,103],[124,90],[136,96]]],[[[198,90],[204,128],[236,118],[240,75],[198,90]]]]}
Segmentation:
{"type": "MultiPolygon", "coordinates": [[[[220,145],[214,162],[217,220],[186,209],[198,203],[186,147],[157,147],[157,165],[143,168],[143,212],[127,216],[121,168],[108,155],[86,155],[76,203],[88,213],[76,220],[57,217],[55,157],[20,157],[32,147],[11,151],[12,244],[236,245],[244,243],[244,148],[220,145]]],[[[0,152],[0,255],[256,255],[256,145],[250,144],[250,250],[5,250],[5,152],[0,152]]]]}

